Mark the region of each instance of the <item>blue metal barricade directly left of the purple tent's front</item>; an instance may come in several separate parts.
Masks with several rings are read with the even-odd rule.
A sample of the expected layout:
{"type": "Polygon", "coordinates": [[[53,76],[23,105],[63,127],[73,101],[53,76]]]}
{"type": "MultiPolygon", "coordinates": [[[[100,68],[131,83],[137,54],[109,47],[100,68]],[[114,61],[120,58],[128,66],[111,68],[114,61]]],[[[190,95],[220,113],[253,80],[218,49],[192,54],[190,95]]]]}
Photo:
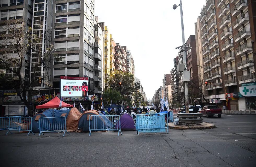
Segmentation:
{"type": "Polygon", "coordinates": [[[121,132],[121,122],[120,122],[120,115],[90,115],[89,117],[89,136],[91,136],[91,131],[103,131],[103,130],[110,130],[110,131],[118,131],[121,132]],[[115,126],[119,121],[119,126],[115,126]]]}

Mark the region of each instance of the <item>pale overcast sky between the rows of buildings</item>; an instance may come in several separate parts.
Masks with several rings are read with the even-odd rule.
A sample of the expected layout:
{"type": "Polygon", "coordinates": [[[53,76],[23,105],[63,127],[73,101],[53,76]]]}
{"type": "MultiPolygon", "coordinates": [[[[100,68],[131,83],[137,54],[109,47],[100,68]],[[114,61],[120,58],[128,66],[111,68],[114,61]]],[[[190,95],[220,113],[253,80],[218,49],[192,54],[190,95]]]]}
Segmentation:
{"type": "MultiPolygon", "coordinates": [[[[164,74],[182,45],[179,0],[95,0],[95,16],[105,22],[116,43],[127,46],[135,63],[135,76],[148,99],[162,86],[164,74]]],[[[197,17],[205,0],[183,0],[185,41],[195,34],[197,17]]]]}

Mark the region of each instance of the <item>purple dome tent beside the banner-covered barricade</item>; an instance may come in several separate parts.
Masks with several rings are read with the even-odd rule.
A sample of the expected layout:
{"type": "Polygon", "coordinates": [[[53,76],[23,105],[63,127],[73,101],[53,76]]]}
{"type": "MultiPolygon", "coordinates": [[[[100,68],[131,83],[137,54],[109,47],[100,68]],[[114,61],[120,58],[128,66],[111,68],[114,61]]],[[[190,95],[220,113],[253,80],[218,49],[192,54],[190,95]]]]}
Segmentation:
{"type": "MultiPolygon", "coordinates": [[[[124,114],[120,117],[120,126],[122,131],[133,131],[136,130],[135,122],[130,114],[124,114]]],[[[119,121],[115,125],[115,129],[119,128],[119,121]]]]}

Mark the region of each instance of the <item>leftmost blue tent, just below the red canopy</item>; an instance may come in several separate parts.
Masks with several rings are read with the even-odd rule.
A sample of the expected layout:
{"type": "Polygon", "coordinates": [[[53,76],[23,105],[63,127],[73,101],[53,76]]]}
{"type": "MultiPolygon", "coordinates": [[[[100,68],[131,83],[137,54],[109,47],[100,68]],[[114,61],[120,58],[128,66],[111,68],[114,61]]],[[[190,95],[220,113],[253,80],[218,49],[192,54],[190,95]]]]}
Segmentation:
{"type": "MultiPolygon", "coordinates": [[[[60,117],[65,116],[67,119],[67,116],[69,114],[71,109],[68,110],[57,110],[57,109],[47,109],[43,111],[42,113],[38,113],[32,117],[32,131],[39,133],[39,118],[46,118],[46,117],[60,117]]],[[[49,127],[54,124],[53,120],[46,120],[49,127]]],[[[55,125],[63,126],[63,124],[59,123],[60,120],[55,120],[55,125]],[[58,121],[58,122],[56,122],[58,121]]],[[[56,127],[57,128],[57,127],[56,127]]],[[[61,128],[61,127],[59,127],[61,128]]],[[[46,129],[44,129],[46,130],[46,129]]]]}

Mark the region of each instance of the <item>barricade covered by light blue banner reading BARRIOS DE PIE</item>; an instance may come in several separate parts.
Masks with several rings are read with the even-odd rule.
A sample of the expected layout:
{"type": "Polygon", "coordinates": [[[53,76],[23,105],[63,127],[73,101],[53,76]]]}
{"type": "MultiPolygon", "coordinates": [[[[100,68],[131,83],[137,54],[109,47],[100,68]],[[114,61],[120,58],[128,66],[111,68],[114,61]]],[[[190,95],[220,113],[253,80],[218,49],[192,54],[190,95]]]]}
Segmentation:
{"type": "Polygon", "coordinates": [[[155,133],[168,132],[168,124],[165,123],[165,117],[168,120],[167,113],[163,114],[137,114],[136,115],[136,132],[155,133]]]}

